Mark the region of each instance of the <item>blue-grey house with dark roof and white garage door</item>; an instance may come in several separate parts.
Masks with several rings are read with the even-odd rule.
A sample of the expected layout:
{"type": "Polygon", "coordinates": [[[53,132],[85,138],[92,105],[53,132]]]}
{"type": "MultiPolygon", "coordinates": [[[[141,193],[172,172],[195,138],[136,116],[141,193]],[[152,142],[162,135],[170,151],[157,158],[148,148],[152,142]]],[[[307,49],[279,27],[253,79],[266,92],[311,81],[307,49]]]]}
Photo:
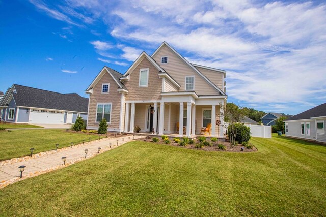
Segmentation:
{"type": "Polygon", "coordinates": [[[1,121],[13,123],[74,123],[87,120],[88,98],[13,84],[0,101],[1,121]]]}

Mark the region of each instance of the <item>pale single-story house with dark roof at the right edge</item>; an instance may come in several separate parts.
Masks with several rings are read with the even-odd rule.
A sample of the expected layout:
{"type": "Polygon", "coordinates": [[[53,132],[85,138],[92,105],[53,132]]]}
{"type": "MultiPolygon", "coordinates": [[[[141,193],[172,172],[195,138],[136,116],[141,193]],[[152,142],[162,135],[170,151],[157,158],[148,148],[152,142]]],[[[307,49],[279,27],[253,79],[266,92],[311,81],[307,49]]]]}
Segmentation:
{"type": "Polygon", "coordinates": [[[284,122],[286,136],[326,143],[326,103],[293,115],[284,122]]]}

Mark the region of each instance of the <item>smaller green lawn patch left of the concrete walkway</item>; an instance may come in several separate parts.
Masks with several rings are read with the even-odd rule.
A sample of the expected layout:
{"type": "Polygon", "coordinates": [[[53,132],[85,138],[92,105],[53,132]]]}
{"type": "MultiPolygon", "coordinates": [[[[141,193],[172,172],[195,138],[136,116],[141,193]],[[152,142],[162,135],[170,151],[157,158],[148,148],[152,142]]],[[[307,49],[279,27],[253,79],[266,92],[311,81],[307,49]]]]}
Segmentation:
{"type": "Polygon", "coordinates": [[[0,160],[18,158],[30,154],[30,148],[35,148],[34,153],[56,149],[98,139],[98,135],[71,133],[64,130],[13,130],[0,131],[0,160]]]}

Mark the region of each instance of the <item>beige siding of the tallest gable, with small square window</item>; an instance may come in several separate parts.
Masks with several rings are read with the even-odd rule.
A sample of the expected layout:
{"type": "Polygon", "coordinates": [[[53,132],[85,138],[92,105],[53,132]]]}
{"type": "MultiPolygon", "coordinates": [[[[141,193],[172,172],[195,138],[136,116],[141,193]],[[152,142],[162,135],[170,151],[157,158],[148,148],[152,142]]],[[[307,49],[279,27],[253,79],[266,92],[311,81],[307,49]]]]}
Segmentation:
{"type": "Polygon", "coordinates": [[[166,70],[180,85],[179,91],[185,90],[185,76],[195,76],[195,92],[199,95],[219,95],[207,81],[204,80],[197,72],[189,67],[184,61],[177,56],[170,48],[163,46],[153,57],[164,70],[166,70]],[[169,63],[161,64],[161,57],[169,56],[169,63]]]}

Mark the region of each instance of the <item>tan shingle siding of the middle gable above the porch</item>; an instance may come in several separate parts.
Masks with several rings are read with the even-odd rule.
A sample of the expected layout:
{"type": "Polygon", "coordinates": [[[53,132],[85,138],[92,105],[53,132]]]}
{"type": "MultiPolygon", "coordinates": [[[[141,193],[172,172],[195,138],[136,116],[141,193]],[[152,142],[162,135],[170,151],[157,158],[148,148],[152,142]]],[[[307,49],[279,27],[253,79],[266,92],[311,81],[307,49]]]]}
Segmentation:
{"type": "Polygon", "coordinates": [[[130,73],[130,81],[125,83],[128,89],[126,101],[134,100],[161,100],[162,79],[158,76],[158,70],[144,58],[140,64],[130,73]],[[140,69],[149,68],[148,86],[139,87],[140,69]]]}

